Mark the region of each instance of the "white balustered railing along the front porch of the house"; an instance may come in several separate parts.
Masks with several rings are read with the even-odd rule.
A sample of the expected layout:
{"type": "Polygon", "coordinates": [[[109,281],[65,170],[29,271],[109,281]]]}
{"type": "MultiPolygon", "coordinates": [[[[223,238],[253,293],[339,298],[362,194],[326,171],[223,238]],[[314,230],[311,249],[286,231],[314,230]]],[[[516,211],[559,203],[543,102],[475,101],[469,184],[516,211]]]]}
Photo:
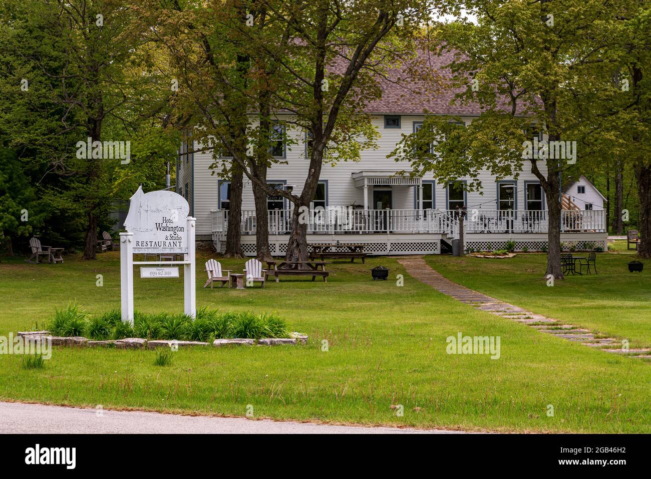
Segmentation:
{"type": "MultiPolygon", "coordinates": [[[[270,234],[289,234],[293,210],[268,212],[270,234]]],[[[243,234],[255,234],[255,210],[242,210],[243,234]]],[[[454,210],[353,210],[327,208],[305,213],[311,234],[434,233],[458,238],[459,223],[454,210]]],[[[546,233],[546,210],[468,210],[464,230],[471,234],[546,233]]],[[[228,211],[212,212],[213,232],[226,232],[228,211]]],[[[603,210],[562,210],[561,232],[604,232],[603,210]]]]}

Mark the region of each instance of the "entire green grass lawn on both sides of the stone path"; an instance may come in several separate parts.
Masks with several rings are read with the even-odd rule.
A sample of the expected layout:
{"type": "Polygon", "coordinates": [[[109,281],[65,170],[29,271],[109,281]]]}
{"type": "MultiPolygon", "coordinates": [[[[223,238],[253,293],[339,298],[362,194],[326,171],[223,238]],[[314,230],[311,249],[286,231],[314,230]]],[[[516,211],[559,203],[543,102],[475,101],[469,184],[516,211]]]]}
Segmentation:
{"type": "MultiPolygon", "coordinates": [[[[198,270],[206,258],[198,259],[198,270]]],[[[626,283],[630,273],[621,266],[618,280],[624,260],[622,255],[601,255],[598,277],[572,278],[546,289],[540,281],[542,255],[490,263],[428,257],[452,279],[469,277],[461,282],[525,307],[533,308],[531,302],[537,301],[538,312],[566,314],[564,319],[572,322],[582,298],[596,303],[595,310],[610,305],[616,313],[610,319],[613,329],[626,329],[631,340],[647,344],[648,273],[626,283]],[[521,274],[506,274],[508,267],[521,274]],[[511,290],[500,289],[503,281],[512,284],[511,290]]],[[[234,270],[243,265],[242,260],[222,263],[234,270]]],[[[0,400],[236,416],[244,416],[252,405],[258,418],[468,430],[651,432],[650,363],[480,312],[408,275],[398,287],[395,277],[405,271],[391,258],[371,258],[366,265],[337,263],[331,269],[326,284],[290,279],[245,291],[204,290],[205,273],[197,271],[198,307],[278,312],[292,331],[310,335],[307,346],[180,350],[168,367],[154,366],[153,351],[57,348],[40,370],[24,370],[20,357],[2,355],[0,400]],[[378,264],[391,268],[392,281],[370,281],[368,269],[378,264]],[[458,332],[500,336],[500,359],[448,355],[446,338],[458,332]],[[329,351],[322,351],[324,339],[329,351]],[[404,416],[396,416],[392,404],[403,405],[404,416]],[[546,414],[549,404],[553,417],[546,414]]],[[[136,308],[182,310],[182,278],[134,276],[136,308]]],[[[89,312],[102,312],[119,307],[119,296],[118,253],[101,254],[96,262],[68,257],[64,264],[38,266],[3,258],[0,335],[36,323],[41,327],[55,307],[70,300],[89,312]],[[98,274],[104,275],[101,288],[96,286],[98,274]]],[[[590,316],[596,315],[586,314],[585,321],[610,326],[607,314],[590,316]]]]}

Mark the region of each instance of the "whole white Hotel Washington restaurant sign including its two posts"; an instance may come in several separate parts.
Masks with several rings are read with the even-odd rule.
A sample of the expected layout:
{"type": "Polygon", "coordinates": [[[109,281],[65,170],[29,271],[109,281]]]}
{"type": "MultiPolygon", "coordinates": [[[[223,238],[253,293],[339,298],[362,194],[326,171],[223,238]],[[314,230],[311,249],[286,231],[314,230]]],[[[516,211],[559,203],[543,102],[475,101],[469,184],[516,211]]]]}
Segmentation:
{"type": "MultiPolygon", "coordinates": [[[[173,268],[163,264],[183,265],[184,312],[192,318],[197,314],[195,226],[196,219],[188,216],[189,205],[184,197],[173,191],[143,193],[139,187],[131,198],[129,213],[124,221],[127,233],[120,233],[120,297],[122,321],[133,325],[133,265],[158,265],[146,268],[145,277],[178,277],[173,268]],[[133,261],[133,254],[183,254],[183,261],[133,261]],[[154,269],[154,271],[150,271],[154,269]]],[[[145,256],[146,258],[146,256],[145,256]]],[[[141,276],[143,270],[141,269],[141,276]]]]}

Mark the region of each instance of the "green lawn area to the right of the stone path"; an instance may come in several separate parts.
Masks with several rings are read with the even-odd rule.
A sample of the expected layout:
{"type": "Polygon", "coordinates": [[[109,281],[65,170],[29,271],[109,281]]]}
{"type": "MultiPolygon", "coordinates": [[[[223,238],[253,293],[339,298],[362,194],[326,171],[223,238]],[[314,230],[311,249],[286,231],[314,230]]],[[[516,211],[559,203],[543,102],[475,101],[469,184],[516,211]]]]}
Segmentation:
{"type": "MultiPolygon", "coordinates": [[[[575,253],[587,256],[587,253],[575,253]]],[[[630,273],[636,256],[597,254],[597,275],[568,275],[547,286],[546,254],[517,254],[508,260],[429,256],[439,273],[468,288],[529,308],[564,323],[628,339],[631,348],[651,347],[651,264],[630,273]]],[[[585,268],[583,269],[585,273],[585,268]]]]}

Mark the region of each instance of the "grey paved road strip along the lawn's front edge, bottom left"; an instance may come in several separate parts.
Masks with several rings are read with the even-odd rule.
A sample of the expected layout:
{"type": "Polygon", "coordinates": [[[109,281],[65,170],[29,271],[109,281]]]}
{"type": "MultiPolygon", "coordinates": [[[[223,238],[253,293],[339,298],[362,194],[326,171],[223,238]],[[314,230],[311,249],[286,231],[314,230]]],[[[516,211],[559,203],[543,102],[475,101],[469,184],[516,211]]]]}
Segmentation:
{"type": "Polygon", "coordinates": [[[458,431],[330,426],[247,418],[182,416],[141,411],[107,411],[44,404],[0,402],[0,433],[281,433],[408,434],[458,431]]]}

